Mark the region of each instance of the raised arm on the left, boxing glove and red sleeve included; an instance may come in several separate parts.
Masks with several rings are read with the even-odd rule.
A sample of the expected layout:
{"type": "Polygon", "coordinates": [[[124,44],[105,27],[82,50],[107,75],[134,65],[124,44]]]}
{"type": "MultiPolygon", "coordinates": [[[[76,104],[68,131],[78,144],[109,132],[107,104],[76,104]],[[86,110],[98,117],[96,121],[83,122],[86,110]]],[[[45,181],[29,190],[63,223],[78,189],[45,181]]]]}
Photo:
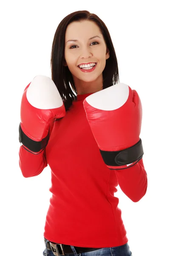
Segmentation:
{"type": "Polygon", "coordinates": [[[47,166],[45,148],[54,119],[65,116],[65,106],[54,82],[36,76],[26,87],[20,107],[19,165],[24,177],[39,175],[47,166]]]}

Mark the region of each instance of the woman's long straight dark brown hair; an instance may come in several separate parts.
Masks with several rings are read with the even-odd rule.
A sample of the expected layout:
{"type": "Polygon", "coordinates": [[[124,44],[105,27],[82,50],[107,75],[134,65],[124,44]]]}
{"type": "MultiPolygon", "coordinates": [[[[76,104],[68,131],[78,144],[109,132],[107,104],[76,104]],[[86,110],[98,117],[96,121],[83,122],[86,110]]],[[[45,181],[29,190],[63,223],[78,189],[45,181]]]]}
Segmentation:
{"type": "MultiPolygon", "coordinates": [[[[71,22],[79,20],[94,21],[99,27],[105,40],[106,46],[109,49],[110,56],[106,60],[105,69],[102,72],[103,89],[119,82],[116,53],[113,47],[110,33],[105,23],[97,15],[88,11],[77,11],[67,15],[57,27],[51,49],[51,79],[54,81],[54,84],[59,91],[66,111],[68,111],[72,105],[72,101],[77,99],[77,90],[74,85],[73,76],[68,69],[68,66],[64,66],[65,31],[71,22]]],[[[57,119],[55,121],[57,121],[57,119]]]]}

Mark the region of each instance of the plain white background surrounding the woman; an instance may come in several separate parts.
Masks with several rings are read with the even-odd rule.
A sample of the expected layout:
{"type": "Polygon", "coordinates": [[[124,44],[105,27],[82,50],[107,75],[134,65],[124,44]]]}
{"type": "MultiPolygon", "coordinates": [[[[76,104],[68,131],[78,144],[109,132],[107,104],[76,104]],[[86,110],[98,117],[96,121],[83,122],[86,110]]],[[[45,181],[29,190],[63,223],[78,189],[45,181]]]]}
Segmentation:
{"type": "MultiPolygon", "coordinates": [[[[133,203],[119,186],[119,208],[133,256],[170,255],[170,39],[168,1],[6,1],[0,6],[0,255],[42,256],[51,193],[49,166],[31,178],[19,167],[18,127],[23,90],[50,76],[59,22],[88,10],[108,27],[120,82],[142,101],[141,138],[146,195],[133,203]]],[[[101,206],[102,207],[102,206],[101,206]]],[[[107,216],[106,216],[107,218],[107,216]]]]}

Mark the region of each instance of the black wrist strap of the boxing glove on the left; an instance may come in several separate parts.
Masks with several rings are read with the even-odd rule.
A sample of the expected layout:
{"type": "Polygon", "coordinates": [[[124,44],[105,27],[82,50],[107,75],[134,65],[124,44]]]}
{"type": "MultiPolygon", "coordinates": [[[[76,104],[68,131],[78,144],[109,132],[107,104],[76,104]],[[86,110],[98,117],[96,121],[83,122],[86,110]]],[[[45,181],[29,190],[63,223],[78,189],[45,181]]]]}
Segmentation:
{"type": "MultiPolygon", "coordinates": [[[[31,140],[23,132],[23,130],[21,129],[21,125],[19,125],[19,142],[22,143],[24,146],[26,146],[26,148],[28,148],[29,150],[31,150],[33,152],[39,152],[42,148],[44,149],[46,147],[46,145],[48,144],[49,137],[50,137],[49,135],[50,135],[50,129],[48,131],[48,135],[41,141],[31,140]]],[[[29,151],[29,152],[31,152],[31,151],[29,151]]],[[[33,152],[31,152],[31,153],[33,153],[33,152]]]]}

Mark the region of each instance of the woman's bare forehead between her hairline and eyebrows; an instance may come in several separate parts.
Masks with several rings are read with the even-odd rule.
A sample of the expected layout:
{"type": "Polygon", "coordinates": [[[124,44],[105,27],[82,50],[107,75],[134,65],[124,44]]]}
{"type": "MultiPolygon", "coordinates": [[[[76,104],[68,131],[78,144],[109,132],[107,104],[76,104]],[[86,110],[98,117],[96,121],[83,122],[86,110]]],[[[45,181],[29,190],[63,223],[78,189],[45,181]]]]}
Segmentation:
{"type": "Polygon", "coordinates": [[[87,39],[94,35],[99,35],[102,38],[102,33],[95,22],[90,20],[73,21],[67,26],[65,41],[70,39],[87,39]]]}

